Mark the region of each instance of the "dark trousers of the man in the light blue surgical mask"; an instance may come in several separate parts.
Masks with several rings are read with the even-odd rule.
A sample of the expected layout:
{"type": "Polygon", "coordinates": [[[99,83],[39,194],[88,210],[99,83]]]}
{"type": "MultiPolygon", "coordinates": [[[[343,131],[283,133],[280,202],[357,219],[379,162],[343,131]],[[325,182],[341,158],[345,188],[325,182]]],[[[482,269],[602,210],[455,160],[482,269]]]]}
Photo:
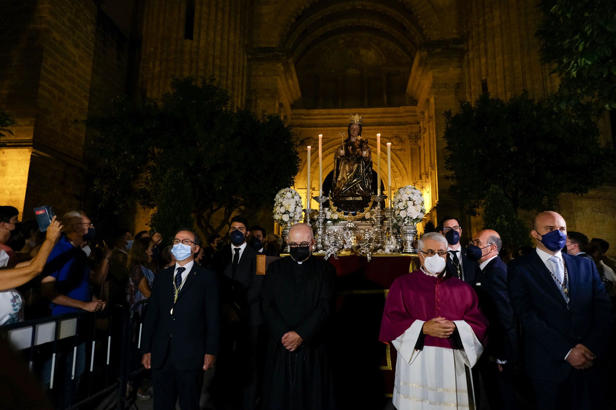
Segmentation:
{"type": "Polygon", "coordinates": [[[179,371],[169,356],[152,372],[154,410],[174,410],[178,398],[180,409],[198,410],[203,369],[179,371]]]}

